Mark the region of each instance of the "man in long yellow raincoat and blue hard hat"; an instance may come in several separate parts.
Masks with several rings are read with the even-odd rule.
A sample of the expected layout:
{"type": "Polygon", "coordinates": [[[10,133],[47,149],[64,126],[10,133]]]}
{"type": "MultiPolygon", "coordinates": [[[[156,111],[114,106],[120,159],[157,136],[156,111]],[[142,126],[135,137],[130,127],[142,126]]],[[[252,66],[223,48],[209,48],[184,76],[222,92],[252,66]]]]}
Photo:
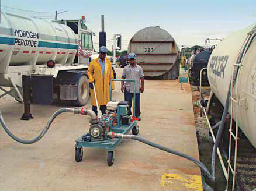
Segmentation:
{"type": "Polygon", "coordinates": [[[106,58],[108,49],[104,46],[99,48],[99,57],[94,59],[87,70],[89,77],[89,87],[91,88],[91,103],[92,110],[97,115],[96,100],[94,95],[94,87],[92,83],[95,83],[96,97],[98,100],[99,109],[102,114],[105,114],[106,104],[110,101],[110,82],[114,78],[112,63],[106,58]]]}

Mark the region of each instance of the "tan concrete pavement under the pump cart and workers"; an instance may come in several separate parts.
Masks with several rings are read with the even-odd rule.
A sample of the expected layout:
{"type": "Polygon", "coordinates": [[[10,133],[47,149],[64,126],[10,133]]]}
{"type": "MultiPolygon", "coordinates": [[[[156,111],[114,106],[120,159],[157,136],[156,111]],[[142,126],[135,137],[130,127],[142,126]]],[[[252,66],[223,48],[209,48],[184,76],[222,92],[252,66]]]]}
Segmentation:
{"type": "MultiPolygon", "coordinates": [[[[139,136],[199,159],[189,84],[183,89],[177,80],[146,80],[139,136]]],[[[120,83],[113,98],[123,100],[120,83]]],[[[0,107],[15,135],[30,139],[63,106],[32,105],[30,121],[19,120],[23,105],[11,97],[1,98],[0,107]]],[[[106,151],[94,148],[84,148],[83,160],[75,162],[75,139],[88,129],[88,116],[64,113],[43,139],[25,145],[0,128],[0,190],[202,190],[195,164],[135,140],[116,148],[112,167],[106,151]]]]}

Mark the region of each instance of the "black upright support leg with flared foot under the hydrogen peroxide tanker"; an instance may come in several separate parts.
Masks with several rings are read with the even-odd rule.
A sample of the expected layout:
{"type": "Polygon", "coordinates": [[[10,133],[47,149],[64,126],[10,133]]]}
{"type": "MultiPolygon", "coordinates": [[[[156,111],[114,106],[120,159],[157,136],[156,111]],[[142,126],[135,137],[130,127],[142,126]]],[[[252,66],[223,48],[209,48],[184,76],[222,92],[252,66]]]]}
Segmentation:
{"type": "Polygon", "coordinates": [[[23,101],[24,101],[24,114],[22,115],[21,120],[30,120],[33,119],[32,114],[30,113],[30,104],[31,104],[31,89],[30,89],[30,79],[29,75],[22,75],[22,88],[23,88],[23,101]]]}

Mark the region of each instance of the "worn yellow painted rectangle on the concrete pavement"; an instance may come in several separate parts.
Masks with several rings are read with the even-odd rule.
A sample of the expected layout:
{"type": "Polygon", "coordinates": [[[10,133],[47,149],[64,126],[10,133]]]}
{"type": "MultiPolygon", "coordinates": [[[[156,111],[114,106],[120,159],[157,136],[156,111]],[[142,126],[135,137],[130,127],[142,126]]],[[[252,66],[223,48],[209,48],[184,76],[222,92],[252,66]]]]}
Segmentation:
{"type": "Polygon", "coordinates": [[[184,191],[203,191],[202,178],[199,175],[163,173],[160,186],[184,191]]]}

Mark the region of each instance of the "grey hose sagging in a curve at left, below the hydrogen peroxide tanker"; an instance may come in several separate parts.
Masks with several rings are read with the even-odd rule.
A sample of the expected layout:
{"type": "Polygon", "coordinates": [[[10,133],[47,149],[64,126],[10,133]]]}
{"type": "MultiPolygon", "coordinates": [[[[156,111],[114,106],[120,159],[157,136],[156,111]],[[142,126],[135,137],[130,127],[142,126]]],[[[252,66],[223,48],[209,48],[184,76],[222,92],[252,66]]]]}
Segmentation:
{"type": "Polygon", "coordinates": [[[60,115],[63,112],[66,112],[65,108],[58,109],[58,111],[56,111],[53,115],[51,115],[49,121],[47,122],[46,127],[41,131],[41,133],[37,137],[35,137],[34,139],[31,139],[31,140],[22,140],[22,139],[19,139],[19,137],[16,137],[15,135],[13,135],[13,133],[6,126],[1,111],[0,111],[0,123],[1,123],[2,127],[4,128],[5,132],[10,137],[12,137],[12,139],[16,140],[16,142],[23,143],[23,144],[32,144],[32,143],[35,143],[35,142],[39,141],[41,138],[43,138],[44,135],[46,135],[46,132],[50,128],[51,123],[54,121],[54,119],[58,115],[60,115]]]}

